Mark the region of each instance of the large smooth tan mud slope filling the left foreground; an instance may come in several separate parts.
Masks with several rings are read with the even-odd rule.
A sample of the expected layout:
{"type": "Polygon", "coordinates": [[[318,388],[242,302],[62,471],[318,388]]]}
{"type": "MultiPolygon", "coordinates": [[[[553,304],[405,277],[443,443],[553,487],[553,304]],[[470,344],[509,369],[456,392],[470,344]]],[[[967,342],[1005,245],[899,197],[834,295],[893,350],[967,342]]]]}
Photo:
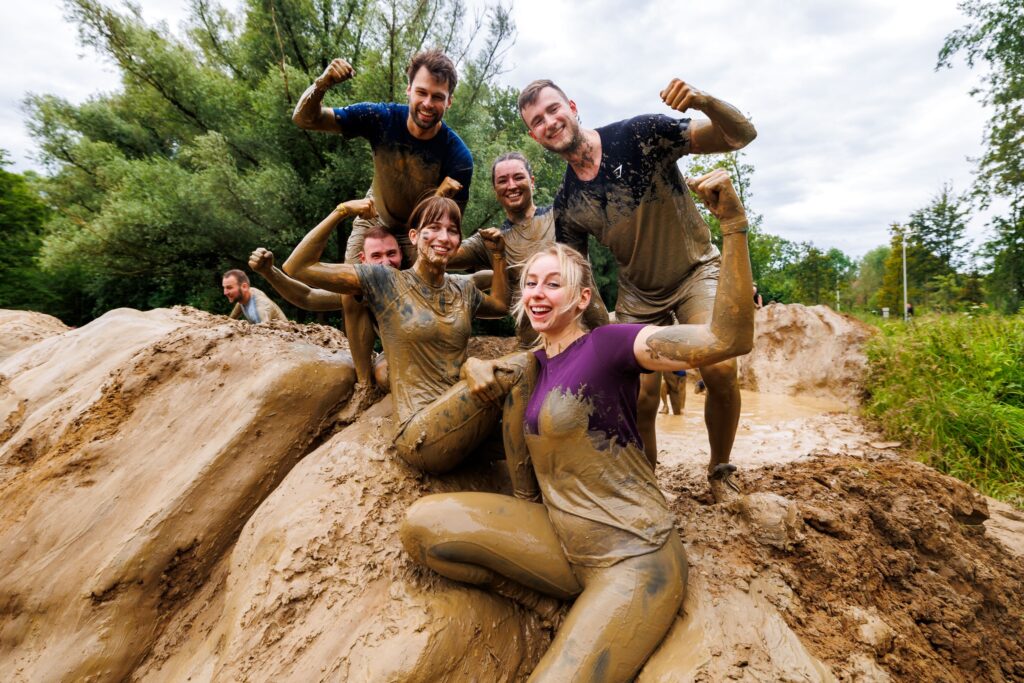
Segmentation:
{"type": "Polygon", "coordinates": [[[350,394],[330,337],[119,309],[0,362],[0,679],[131,673],[350,394]]]}

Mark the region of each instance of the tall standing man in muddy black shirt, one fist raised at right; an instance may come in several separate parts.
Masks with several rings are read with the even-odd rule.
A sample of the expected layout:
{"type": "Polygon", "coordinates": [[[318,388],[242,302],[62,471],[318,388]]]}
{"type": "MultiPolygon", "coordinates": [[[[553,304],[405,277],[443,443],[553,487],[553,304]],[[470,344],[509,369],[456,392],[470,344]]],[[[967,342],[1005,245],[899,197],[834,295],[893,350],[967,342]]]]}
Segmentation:
{"type": "MultiPolygon", "coordinates": [[[[676,164],[687,154],[730,152],[755,138],[754,126],[726,102],[673,79],[662,99],[677,112],[694,109],[708,121],[644,115],[597,130],[580,125],[575,102],[551,81],[519,94],[530,137],[568,166],[555,197],[556,240],[587,253],[593,234],[618,263],[616,323],[706,323],[719,275],[719,252],[676,164]]],[[[748,286],[750,287],[750,286],[748,286]]],[[[750,298],[750,289],[745,295],[750,298]]],[[[705,422],[708,466],[719,502],[734,490],[729,455],[739,420],[736,364],[701,368],[708,385],[705,422]]],[[[639,425],[647,457],[657,463],[654,421],[660,375],[641,382],[639,425]]]]}

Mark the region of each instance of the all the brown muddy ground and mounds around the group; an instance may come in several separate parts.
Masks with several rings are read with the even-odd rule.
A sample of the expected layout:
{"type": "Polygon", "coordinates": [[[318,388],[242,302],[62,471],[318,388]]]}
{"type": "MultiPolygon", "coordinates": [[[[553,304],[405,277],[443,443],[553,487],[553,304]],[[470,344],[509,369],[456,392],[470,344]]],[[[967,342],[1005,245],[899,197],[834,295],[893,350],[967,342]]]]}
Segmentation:
{"type": "MultiPolygon", "coordinates": [[[[10,319],[4,680],[516,681],[544,651],[532,613],[402,553],[412,501],[507,481],[483,463],[411,471],[388,399],[338,425],[337,331],[188,309],[10,319]]],[[[702,396],[659,417],[692,570],[639,681],[1024,681],[1024,515],[857,417],[869,334],[824,307],[759,311],[736,504],[707,492],[702,396]]]]}

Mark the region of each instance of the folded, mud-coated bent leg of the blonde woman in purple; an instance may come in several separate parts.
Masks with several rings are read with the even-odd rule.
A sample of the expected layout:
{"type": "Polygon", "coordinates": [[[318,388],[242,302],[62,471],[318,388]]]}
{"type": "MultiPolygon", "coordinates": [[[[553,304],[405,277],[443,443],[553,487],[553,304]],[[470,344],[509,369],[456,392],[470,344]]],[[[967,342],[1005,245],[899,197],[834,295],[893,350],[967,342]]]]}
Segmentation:
{"type": "Polygon", "coordinates": [[[437,494],[406,513],[401,543],[417,562],[454,581],[520,587],[559,600],[580,592],[547,509],[500,494],[437,494]]]}

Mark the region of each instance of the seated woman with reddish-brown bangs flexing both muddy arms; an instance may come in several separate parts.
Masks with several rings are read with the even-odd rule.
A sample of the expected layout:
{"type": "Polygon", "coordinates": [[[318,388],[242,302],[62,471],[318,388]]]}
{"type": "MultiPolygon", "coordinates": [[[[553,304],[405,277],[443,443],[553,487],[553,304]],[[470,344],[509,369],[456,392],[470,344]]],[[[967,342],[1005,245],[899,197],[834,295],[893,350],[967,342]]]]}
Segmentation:
{"type": "Polygon", "coordinates": [[[508,410],[520,414],[524,402],[510,405],[521,368],[503,366],[507,372],[477,381],[473,364],[467,362],[473,316],[507,314],[508,287],[500,236],[486,243],[494,266],[489,295],[471,280],[445,272],[462,241],[461,221],[459,205],[451,199],[430,197],[417,205],[409,231],[417,259],[408,270],[321,263],[333,227],[325,221],[295,248],[284,268],[307,285],[366,299],[388,356],[395,450],[425,472],[451,470],[476,449],[498,426],[503,397],[508,410]]]}

